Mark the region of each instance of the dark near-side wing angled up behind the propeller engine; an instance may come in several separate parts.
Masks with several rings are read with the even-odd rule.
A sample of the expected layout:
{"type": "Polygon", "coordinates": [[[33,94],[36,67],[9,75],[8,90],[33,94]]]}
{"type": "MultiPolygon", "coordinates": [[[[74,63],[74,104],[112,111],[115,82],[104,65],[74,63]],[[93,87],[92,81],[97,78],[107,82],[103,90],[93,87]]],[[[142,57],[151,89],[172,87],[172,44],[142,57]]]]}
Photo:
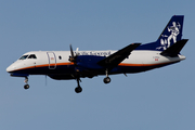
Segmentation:
{"type": "Polygon", "coordinates": [[[121,63],[126,57],[128,57],[131,54],[131,51],[133,51],[141,43],[129,44],[123,49],[115,52],[114,54],[105,57],[104,60],[98,62],[98,64],[108,68],[117,66],[119,63],[121,63]]]}

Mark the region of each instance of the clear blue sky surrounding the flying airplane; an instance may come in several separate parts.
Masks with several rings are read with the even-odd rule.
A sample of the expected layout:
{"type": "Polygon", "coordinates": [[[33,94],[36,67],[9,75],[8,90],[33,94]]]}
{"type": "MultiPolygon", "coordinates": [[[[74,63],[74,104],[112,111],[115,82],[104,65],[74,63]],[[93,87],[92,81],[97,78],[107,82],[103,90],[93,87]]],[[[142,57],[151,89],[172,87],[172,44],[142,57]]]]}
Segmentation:
{"type": "Polygon", "coordinates": [[[194,130],[195,1],[1,0],[1,130],[194,130]],[[154,70],[56,81],[10,77],[28,51],[118,50],[155,41],[172,15],[184,15],[185,61],[154,70]]]}

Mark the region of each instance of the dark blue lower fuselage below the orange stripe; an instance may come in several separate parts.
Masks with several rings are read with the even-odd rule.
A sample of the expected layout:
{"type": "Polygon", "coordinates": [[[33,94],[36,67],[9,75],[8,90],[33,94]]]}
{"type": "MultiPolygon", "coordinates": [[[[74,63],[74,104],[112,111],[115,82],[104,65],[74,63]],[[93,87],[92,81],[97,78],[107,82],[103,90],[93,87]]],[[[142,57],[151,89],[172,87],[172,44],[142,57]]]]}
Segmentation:
{"type": "MultiPolygon", "coordinates": [[[[173,62],[177,63],[177,62],[173,62]]],[[[158,65],[150,65],[150,66],[122,66],[119,65],[115,68],[113,68],[109,72],[109,75],[112,74],[131,74],[131,73],[141,73],[141,72],[145,72],[145,70],[150,70],[150,69],[154,69],[157,67],[161,67],[161,66],[166,66],[166,65],[170,65],[173,63],[167,63],[167,64],[158,64],[158,65]]],[[[88,77],[88,75],[92,75],[94,72],[94,75],[105,75],[105,72],[103,69],[88,69],[88,72],[84,72],[84,76],[88,77]]],[[[80,72],[81,74],[82,72],[80,72]]],[[[75,66],[74,65],[58,65],[56,66],[55,69],[49,69],[48,66],[46,67],[35,67],[35,68],[26,68],[26,69],[21,69],[21,70],[16,70],[13,72],[12,74],[20,74],[20,75],[74,75],[75,74],[75,66]]]]}

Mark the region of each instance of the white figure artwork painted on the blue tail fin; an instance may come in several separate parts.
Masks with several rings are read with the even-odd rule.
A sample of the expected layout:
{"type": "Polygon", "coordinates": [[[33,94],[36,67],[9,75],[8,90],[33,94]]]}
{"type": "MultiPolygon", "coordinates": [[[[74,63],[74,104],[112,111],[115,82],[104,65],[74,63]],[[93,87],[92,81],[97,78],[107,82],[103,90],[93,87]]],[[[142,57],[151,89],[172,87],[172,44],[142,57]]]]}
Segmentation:
{"type": "Polygon", "coordinates": [[[160,37],[160,47],[156,48],[160,50],[161,48],[166,50],[169,48],[172,43],[177,42],[177,36],[180,34],[181,25],[180,23],[172,22],[172,26],[167,26],[168,35],[161,35],[160,37]]]}

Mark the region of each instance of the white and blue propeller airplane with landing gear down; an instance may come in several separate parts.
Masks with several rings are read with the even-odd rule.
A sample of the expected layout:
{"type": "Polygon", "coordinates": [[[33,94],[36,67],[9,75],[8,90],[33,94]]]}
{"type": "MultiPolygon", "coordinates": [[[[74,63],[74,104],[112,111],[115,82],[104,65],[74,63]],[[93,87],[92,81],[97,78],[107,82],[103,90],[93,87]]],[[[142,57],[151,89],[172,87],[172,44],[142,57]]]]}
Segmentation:
{"type": "Polygon", "coordinates": [[[188,39],[182,39],[184,15],[173,15],[155,42],[131,43],[118,51],[31,51],[11,64],[6,72],[13,77],[24,77],[24,89],[29,89],[29,75],[46,75],[55,80],[77,81],[76,93],[80,93],[80,78],[105,75],[134,74],[164,67],[185,60],[180,53],[188,39]]]}

